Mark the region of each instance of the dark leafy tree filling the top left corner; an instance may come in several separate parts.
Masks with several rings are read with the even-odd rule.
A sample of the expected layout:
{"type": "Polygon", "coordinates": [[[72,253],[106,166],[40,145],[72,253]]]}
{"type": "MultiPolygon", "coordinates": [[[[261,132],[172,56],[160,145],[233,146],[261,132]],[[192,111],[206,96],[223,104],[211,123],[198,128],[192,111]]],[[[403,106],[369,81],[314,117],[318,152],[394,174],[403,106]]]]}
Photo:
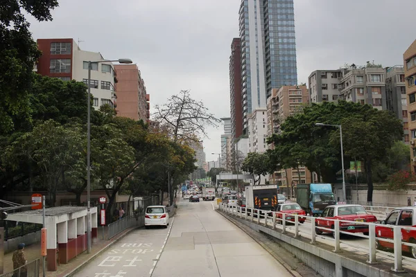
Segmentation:
{"type": "Polygon", "coordinates": [[[29,31],[24,12],[38,21],[52,20],[56,0],[3,0],[0,5],[0,129],[14,128],[12,116],[30,117],[28,93],[33,66],[40,51],[29,31]]]}

